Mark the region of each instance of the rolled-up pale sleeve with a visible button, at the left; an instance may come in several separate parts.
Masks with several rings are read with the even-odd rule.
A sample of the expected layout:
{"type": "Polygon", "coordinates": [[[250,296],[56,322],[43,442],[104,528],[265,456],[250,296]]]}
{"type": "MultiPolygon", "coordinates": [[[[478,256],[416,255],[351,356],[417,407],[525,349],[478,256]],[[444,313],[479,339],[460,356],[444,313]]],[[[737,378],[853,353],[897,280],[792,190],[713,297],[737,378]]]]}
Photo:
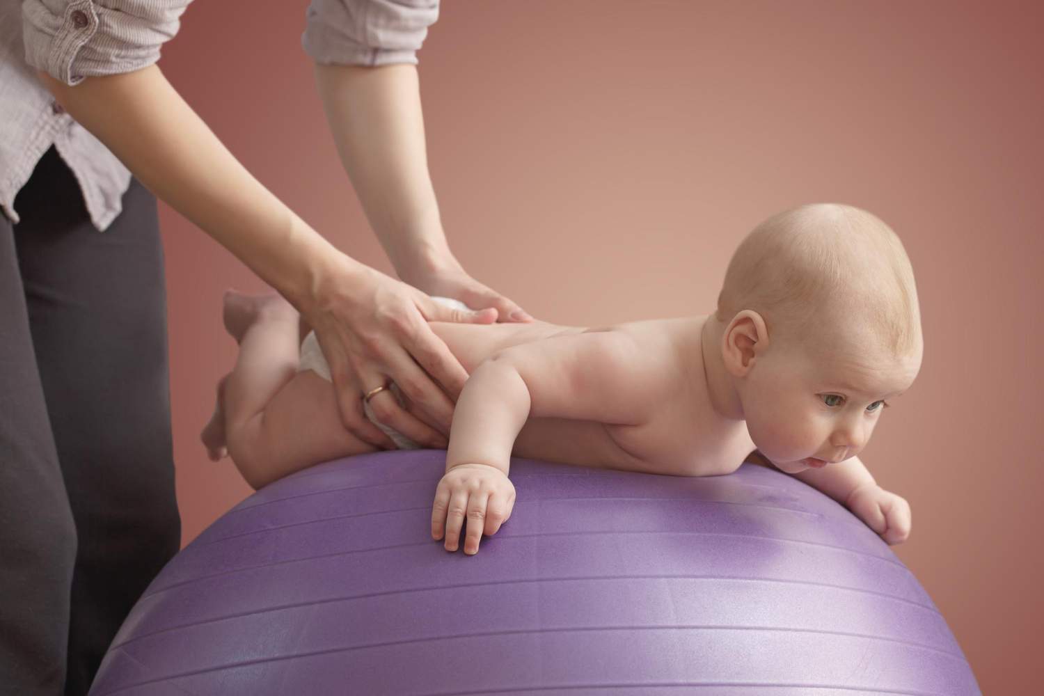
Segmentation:
{"type": "Polygon", "coordinates": [[[25,61],[76,85],[132,72],[160,58],[191,0],[25,0],[25,61]]]}

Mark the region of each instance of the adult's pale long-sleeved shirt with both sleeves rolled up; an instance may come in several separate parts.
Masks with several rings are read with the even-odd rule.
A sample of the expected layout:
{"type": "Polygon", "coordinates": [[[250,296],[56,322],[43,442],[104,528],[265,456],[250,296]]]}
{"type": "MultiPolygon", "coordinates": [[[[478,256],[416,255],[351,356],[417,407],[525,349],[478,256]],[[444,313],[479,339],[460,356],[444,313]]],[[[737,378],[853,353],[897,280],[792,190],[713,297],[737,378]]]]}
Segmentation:
{"type": "MultiPolygon", "coordinates": [[[[67,85],[150,66],[191,0],[0,0],[0,210],[18,222],[15,197],[52,145],[79,182],[103,231],[120,214],[130,172],[63,113],[37,79],[67,85]]],[[[438,0],[312,0],[302,44],[321,64],[417,63],[438,0]]]]}

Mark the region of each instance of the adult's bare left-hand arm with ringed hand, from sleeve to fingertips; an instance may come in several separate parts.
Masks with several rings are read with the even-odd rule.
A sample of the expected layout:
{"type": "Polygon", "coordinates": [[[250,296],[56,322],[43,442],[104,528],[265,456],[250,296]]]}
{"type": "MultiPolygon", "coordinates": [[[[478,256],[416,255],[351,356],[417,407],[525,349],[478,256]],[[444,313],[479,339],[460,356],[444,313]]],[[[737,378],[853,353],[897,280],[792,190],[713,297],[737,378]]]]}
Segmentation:
{"type": "MultiPolygon", "coordinates": [[[[365,418],[361,399],[390,378],[431,425],[448,431],[450,398],[468,375],[427,321],[490,321],[490,315],[449,310],[337,251],[239,164],[158,67],[89,77],[76,87],[46,73],[41,79],[142,183],[305,315],[330,363],[349,430],[394,447],[365,418]]],[[[444,441],[402,409],[386,409],[384,422],[419,442],[444,441]]]]}

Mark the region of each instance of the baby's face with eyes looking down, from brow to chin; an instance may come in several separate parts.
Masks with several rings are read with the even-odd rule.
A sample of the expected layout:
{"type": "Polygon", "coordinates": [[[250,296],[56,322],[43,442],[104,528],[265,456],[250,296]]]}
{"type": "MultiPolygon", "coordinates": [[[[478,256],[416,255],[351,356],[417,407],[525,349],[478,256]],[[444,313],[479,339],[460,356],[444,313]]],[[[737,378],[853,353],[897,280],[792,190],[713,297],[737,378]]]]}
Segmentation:
{"type": "Polygon", "coordinates": [[[741,393],[748,430],[778,469],[798,474],[854,457],[867,446],[888,400],[921,366],[920,347],[904,357],[852,349],[855,341],[769,349],[741,393]]]}

